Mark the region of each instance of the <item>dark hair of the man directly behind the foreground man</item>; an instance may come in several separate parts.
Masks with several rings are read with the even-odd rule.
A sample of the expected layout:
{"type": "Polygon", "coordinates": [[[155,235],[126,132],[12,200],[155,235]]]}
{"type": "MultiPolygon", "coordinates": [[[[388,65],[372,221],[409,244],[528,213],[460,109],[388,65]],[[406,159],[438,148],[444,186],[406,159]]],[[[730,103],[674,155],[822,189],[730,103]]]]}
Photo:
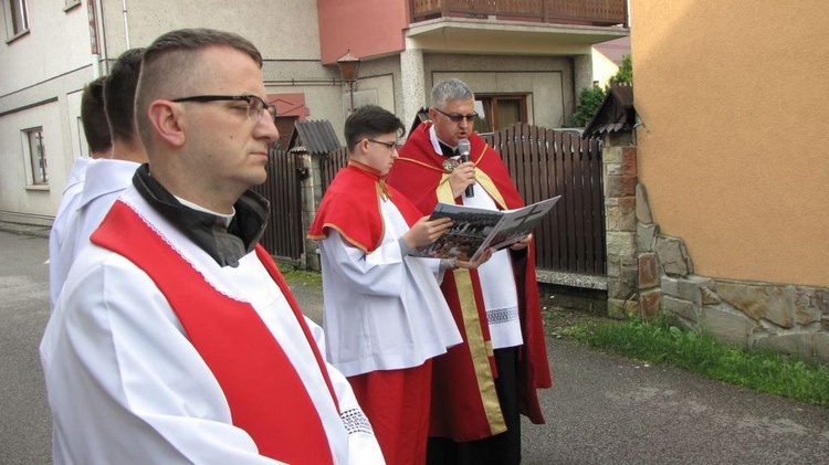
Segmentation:
{"type": "Polygon", "coordinates": [[[113,139],[135,138],[135,89],[141,71],[144,49],[129,49],[118,56],[104,83],[106,119],[113,139]]]}

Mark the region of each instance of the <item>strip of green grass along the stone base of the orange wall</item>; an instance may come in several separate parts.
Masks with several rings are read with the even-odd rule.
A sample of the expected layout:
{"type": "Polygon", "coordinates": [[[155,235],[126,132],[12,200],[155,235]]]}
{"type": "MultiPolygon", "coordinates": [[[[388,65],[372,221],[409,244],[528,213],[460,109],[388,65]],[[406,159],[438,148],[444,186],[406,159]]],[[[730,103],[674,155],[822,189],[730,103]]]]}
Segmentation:
{"type": "Polygon", "coordinates": [[[587,321],[558,335],[653,364],[682,368],[758,392],[829,408],[829,367],[815,360],[749,350],[685,331],[665,319],[587,321]]]}

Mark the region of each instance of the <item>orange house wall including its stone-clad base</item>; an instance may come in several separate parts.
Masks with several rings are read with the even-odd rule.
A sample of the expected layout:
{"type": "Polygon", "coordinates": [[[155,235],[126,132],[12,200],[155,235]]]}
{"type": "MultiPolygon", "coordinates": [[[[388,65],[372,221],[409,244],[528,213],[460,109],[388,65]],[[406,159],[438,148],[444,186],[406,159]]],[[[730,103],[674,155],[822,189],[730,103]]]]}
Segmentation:
{"type": "Polygon", "coordinates": [[[829,360],[821,7],[631,2],[640,121],[619,154],[634,154],[637,255],[621,267],[636,282],[638,264],[642,313],[829,360]]]}

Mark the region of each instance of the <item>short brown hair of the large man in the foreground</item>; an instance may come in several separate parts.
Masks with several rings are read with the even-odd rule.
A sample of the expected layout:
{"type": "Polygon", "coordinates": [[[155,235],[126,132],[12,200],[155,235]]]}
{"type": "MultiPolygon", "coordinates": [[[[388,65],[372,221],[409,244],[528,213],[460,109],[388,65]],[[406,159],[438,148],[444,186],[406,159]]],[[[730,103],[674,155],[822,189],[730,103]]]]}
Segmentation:
{"type": "Polygon", "coordinates": [[[199,65],[199,52],[213,47],[227,46],[248,54],[261,68],[262,54],[248,39],[232,32],[213,29],[180,29],[161,34],[144,50],[141,77],[136,95],[138,133],[145,147],[151,140],[151,127],[145,120],[149,106],[159,98],[177,98],[183,95],[171,95],[186,92],[193,82],[199,65]]]}

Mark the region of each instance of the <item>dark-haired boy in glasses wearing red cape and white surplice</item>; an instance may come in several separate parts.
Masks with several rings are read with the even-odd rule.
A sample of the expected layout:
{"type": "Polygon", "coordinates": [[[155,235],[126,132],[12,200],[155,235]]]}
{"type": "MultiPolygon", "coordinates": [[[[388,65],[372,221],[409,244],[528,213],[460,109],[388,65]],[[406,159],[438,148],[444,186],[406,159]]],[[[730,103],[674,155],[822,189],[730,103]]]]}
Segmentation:
{"type": "Polygon", "coordinates": [[[348,116],[348,166],[326,190],[308,237],[319,241],[328,360],[348,377],[386,461],[422,464],[431,360],[461,342],[436,275],[479,263],[444,261],[441,268],[438,258],[407,255],[451,221],[429,221],[386,186],[403,131],[378,106],[348,116]]]}

